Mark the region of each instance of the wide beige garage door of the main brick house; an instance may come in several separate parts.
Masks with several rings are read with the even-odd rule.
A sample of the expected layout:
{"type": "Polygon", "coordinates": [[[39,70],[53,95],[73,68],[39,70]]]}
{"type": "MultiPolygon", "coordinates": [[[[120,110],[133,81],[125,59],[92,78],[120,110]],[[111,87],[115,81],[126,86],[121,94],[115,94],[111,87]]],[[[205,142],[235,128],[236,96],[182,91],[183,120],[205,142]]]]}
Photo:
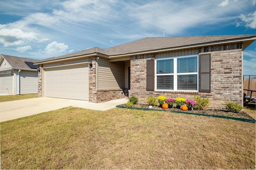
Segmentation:
{"type": "Polygon", "coordinates": [[[44,69],[45,96],[89,100],[88,65],[44,69]]]}

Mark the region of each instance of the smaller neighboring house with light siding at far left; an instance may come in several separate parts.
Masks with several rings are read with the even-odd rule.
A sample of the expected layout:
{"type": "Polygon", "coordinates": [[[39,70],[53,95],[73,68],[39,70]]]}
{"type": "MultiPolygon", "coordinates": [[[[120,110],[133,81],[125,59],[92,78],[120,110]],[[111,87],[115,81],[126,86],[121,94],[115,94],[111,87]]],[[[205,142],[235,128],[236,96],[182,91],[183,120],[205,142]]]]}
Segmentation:
{"type": "Polygon", "coordinates": [[[35,94],[38,93],[39,60],[0,55],[0,93],[35,94]]]}

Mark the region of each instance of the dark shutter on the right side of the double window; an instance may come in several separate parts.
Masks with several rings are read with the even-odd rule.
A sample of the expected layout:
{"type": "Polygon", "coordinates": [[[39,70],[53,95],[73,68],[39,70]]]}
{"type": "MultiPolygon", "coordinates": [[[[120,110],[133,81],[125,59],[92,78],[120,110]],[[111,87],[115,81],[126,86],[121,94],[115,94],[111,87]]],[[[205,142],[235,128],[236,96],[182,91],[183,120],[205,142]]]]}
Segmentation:
{"type": "Polygon", "coordinates": [[[199,92],[211,92],[211,54],[202,54],[199,57],[199,92]]]}

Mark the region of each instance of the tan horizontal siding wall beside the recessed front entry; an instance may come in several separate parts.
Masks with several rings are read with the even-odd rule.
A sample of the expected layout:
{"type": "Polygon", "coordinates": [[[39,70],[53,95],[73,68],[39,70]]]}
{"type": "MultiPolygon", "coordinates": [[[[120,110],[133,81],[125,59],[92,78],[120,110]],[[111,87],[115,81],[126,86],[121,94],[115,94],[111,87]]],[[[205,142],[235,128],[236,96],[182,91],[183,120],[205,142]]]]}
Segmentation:
{"type": "Polygon", "coordinates": [[[124,63],[98,60],[98,90],[124,88],[124,63]]]}

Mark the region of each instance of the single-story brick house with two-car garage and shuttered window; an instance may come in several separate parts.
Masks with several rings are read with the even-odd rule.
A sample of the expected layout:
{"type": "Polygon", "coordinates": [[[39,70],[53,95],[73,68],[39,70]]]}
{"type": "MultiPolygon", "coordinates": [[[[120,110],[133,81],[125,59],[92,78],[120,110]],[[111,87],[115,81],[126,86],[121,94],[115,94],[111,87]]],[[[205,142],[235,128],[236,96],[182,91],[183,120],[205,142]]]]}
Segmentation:
{"type": "Polygon", "coordinates": [[[44,59],[38,95],[99,103],[136,96],[208,98],[243,104],[243,50],[256,35],[152,37],[44,59]]]}

